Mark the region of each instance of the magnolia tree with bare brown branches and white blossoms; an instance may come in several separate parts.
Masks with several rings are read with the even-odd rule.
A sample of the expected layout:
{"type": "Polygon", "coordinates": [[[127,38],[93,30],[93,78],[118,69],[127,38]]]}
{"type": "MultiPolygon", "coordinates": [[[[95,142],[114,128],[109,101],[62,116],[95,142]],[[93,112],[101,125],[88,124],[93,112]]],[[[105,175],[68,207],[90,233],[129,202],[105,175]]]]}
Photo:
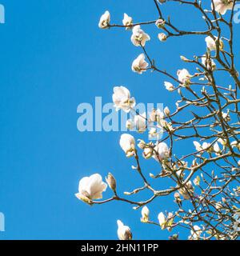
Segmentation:
{"type": "MultiPolygon", "coordinates": [[[[124,14],[121,24],[113,24],[110,22],[109,11],[102,14],[98,24],[101,29],[131,30],[131,42],[142,48],[142,54],[132,63],[132,70],[138,74],[147,71],[162,74],[167,80],[162,90],[178,94],[179,99],[174,111],[168,107],[163,111],[154,109],[147,116],[135,110],[135,99],[125,86],[114,87],[113,102],[116,110],[134,113],[134,118],[127,120],[126,127],[150,135],[145,142],[137,141],[130,134],[122,134],[119,142],[126,157],[134,158],[136,165],[132,168],[142,178],[142,185],[122,196],[117,190],[113,174],[108,174],[106,182],[102,181],[100,174],[93,174],[80,180],[76,194],[79,199],[90,205],[111,201],[129,203],[135,210],[142,209],[142,222],[160,226],[162,230],[174,230],[176,227],[186,229],[189,239],[238,238],[240,79],[234,54],[234,6],[237,3],[235,0],[153,0],[156,14],[150,22],[134,22],[133,18],[124,14]],[[197,10],[206,29],[181,30],[170,20],[170,14],[166,18],[162,12],[162,7],[168,2],[197,10]],[[161,70],[153,56],[148,54],[150,35],[145,32],[147,26],[156,26],[156,30],[160,30],[158,39],[162,42],[185,35],[202,40],[200,36],[204,35],[206,51],[202,55],[189,58],[180,56],[186,68],[192,65],[196,73],[190,74],[187,69],[182,69],[174,75],[161,70]],[[226,74],[228,80],[219,84],[218,76],[226,74]],[[151,129],[147,129],[149,127],[151,129]],[[152,137],[157,139],[151,140],[152,137]],[[182,156],[174,152],[179,141],[185,141],[189,154],[182,156]],[[150,177],[146,175],[139,158],[154,158],[159,164],[159,173],[150,174],[150,177]],[[166,187],[162,189],[152,186],[152,179],[168,179],[170,182],[166,182],[166,187]],[[103,200],[102,193],[107,186],[113,191],[113,196],[103,200]],[[131,195],[146,193],[146,190],[151,194],[147,200],[136,202],[131,199],[131,195]],[[176,203],[178,210],[150,217],[148,204],[159,197],[169,197],[176,203]]],[[[120,220],[117,223],[118,238],[130,240],[130,227],[120,220]]],[[[170,239],[178,239],[178,234],[170,236],[170,239]]]]}

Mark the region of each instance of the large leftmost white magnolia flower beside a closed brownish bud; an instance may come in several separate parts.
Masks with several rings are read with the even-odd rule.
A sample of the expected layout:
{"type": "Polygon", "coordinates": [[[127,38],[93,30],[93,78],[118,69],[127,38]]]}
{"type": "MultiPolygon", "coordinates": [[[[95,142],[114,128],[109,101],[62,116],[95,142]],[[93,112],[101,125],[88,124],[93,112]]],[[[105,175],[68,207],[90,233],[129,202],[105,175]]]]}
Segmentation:
{"type": "Polygon", "coordinates": [[[100,174],[93,174],[80,180],[78,193],[75,196],[84,202],[101,199],[102,192],[106,190],[106,187],[106,183],[102,182],[102,176],[100,174]]]}

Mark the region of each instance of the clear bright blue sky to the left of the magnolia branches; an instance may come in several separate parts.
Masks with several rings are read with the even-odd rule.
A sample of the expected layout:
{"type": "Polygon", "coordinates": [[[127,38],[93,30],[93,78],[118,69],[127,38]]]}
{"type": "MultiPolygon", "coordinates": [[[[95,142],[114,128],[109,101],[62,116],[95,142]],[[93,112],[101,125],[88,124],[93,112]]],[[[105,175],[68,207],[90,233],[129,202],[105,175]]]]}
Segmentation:
{"type": "MultiPolygon", "coordinates": [[[[176,96],[163,88],[165,78],[130,70],[141,52],[130,42],[130,32],[98,29],[105,10],[118,23],[124,12],[136,22],[155,19],[154,2],[0,3],[6,8],[6,24],[0,24],[0,212],[6,217],[6,232],[0,233],[0,239],[115,239],[117,219],[131,227],[135,239],[168,238],[173,233],[142,224],[140,211],[129,205],[111,202],[90,207],[74,197],[79,179],[94,173],[113,173],[122,192],[142,185],[130,168],[134,161],[118,146],[121,132],[77,130],[78,104],[94,103],[95,96],[110,102],[113,86],[123,85],[138,102],[163,102],[174,108],[176,96]]],[[[173,21],[181,20],[183,29],[202,28],[201,16],[194,12],[172,5],[164,9],[172,13],[173,21]]],[[[183,67],[194,72],[179,55],[204,53],[204,37],[162,43],[154,25],[144,30],[152,38],[147,47],[160,68],[172,74],[183,67]]],[[[184,147],[176,150],[186,152],[184,147]]],[[[146,174],[156,174],[158,165],[150,160],[143,168],[146,174]]],[[[165,185],[158,181],[159,188],[165,185]]],[[[104,198],[110,195],[107,190],[104,198]]],[[[160,211],[176,210],[173,200],[160,198],[151,204],[151,218],[157,221],[160,211]]]]}

